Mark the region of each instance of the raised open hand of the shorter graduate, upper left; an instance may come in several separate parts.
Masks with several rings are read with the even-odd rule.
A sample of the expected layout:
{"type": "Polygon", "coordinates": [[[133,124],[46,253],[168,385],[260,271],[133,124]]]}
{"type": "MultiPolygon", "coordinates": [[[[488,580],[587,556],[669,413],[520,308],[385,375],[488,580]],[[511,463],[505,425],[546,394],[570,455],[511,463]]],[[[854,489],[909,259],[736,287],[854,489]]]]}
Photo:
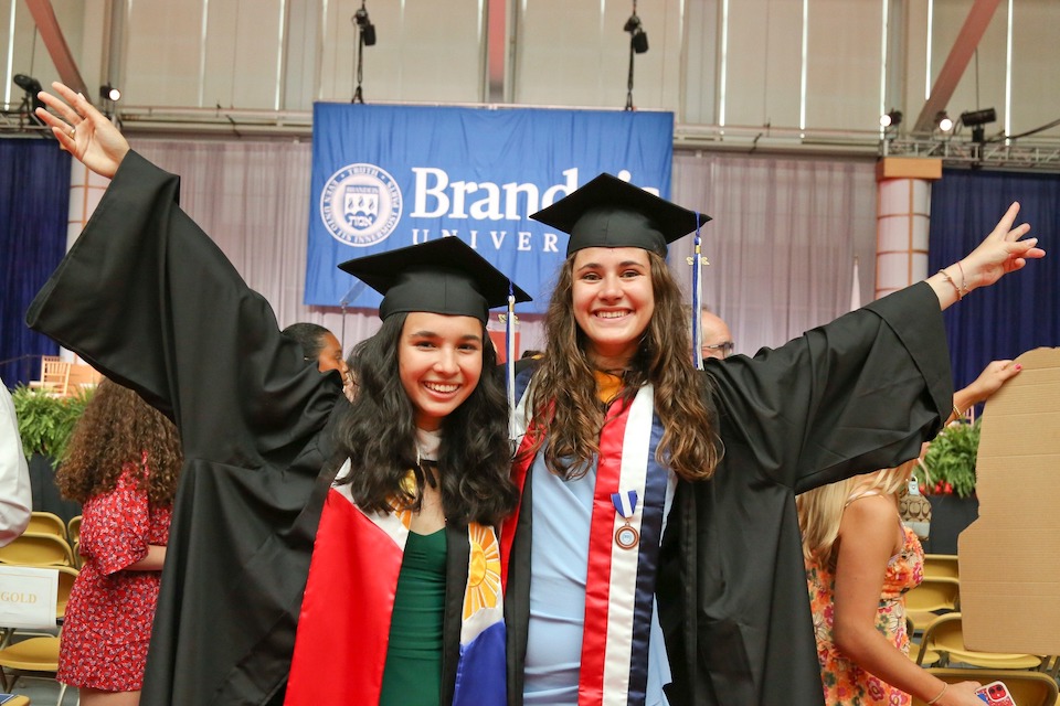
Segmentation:
{"type": "Polygon", "coordinates": [[[52,84],[59,96],[42,90],[38,97],[53,113],[38,108],[35,115],[52,128],[60,146],[85,167],[106,178],[114,176],[129,151],[121,132],[80,93],[59,82],[52,84]]]}

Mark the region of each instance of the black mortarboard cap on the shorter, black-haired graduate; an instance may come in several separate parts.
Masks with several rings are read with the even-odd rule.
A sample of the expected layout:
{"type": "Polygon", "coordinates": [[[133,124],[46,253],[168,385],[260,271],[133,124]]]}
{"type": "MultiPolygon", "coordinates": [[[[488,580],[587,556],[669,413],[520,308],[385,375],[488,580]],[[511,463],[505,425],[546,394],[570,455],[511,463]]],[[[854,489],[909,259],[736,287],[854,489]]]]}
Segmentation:
{"type": "MultiPolygon", "coordinates": [[[[508,277],[455,237],[347,260],[339,269],[383,295],[380,319],[426,311],[485,323],[489,309],[508,302],[508,277]]],[[[511,291],[517,302],[530,301],[515,284],[511,291]]]]}

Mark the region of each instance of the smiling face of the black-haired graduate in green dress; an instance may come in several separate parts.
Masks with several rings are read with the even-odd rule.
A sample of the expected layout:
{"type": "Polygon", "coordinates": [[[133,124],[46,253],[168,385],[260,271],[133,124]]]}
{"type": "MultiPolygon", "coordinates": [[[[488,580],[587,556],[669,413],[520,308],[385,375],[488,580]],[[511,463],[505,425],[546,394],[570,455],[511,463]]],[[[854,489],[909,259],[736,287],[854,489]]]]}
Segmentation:
{"type": "Polygon", "coordinates": [[[398,344],[401,386],[416,426],[436,430],[467,399],[483,375],[483,324],[474,317],[413,311],[398,344]]]}

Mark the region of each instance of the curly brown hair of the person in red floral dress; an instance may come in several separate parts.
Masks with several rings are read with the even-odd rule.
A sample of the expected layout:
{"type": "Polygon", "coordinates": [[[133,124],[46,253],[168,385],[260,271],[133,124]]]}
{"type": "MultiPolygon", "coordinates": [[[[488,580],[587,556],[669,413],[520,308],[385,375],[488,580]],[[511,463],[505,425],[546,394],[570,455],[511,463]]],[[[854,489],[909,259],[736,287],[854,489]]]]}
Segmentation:
{"type": "Polygon", "coordinates": [[[114,490],[125,466],[139,466],[145,451],[150,473],[140,474],[139,488],[150,502],[171,505],[183,463],[177,427],[131,389],[104,379],[74,426],[55,484],[84,503],[114,490]]]}

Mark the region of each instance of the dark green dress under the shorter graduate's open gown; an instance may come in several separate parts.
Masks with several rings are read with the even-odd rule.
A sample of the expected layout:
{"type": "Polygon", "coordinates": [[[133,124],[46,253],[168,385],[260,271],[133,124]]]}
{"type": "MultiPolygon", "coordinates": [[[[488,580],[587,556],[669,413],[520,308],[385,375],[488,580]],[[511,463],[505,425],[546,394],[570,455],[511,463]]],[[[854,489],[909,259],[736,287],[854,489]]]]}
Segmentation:
{"type": "Polygon", "coordinates": [[[394,597],[380,706],[437,706],[442,696],[445,530],[409,533],[394,597]]]}

